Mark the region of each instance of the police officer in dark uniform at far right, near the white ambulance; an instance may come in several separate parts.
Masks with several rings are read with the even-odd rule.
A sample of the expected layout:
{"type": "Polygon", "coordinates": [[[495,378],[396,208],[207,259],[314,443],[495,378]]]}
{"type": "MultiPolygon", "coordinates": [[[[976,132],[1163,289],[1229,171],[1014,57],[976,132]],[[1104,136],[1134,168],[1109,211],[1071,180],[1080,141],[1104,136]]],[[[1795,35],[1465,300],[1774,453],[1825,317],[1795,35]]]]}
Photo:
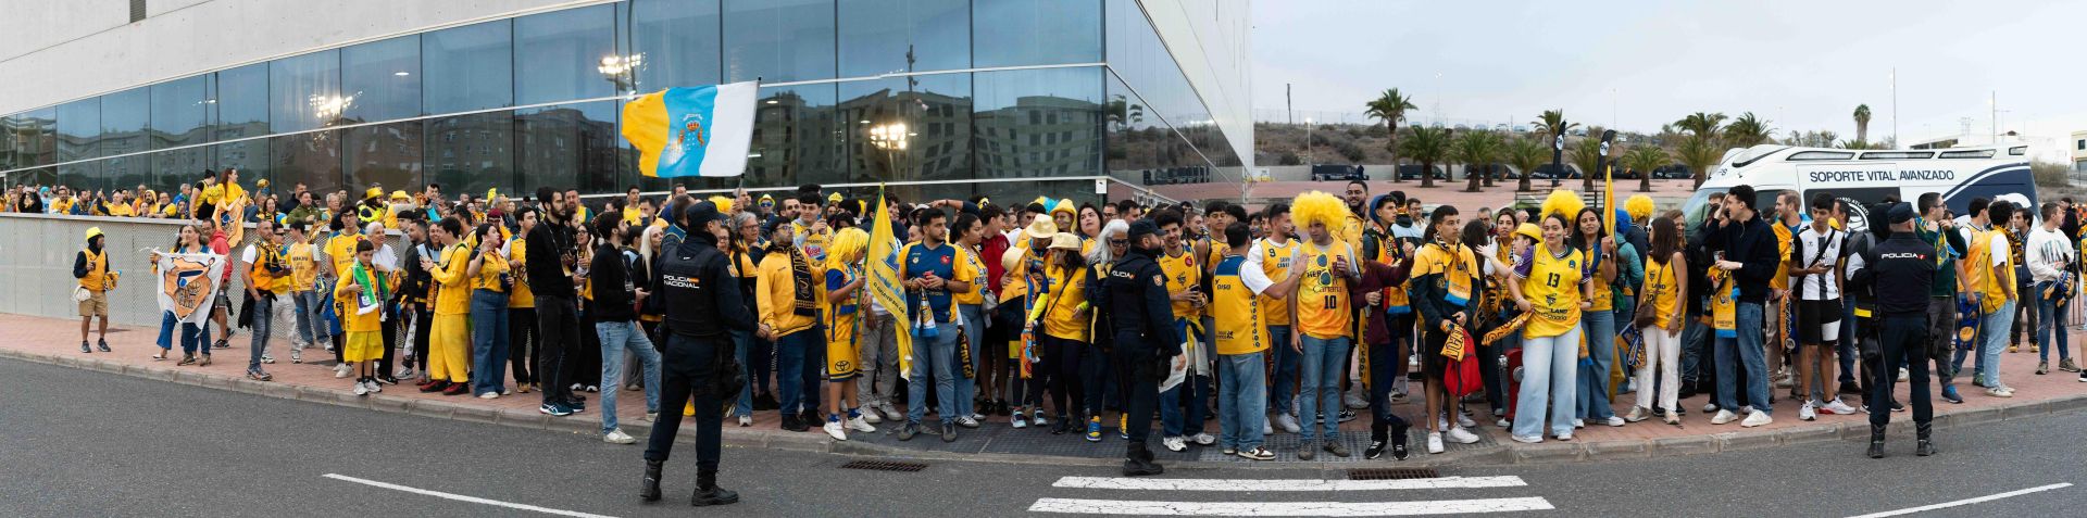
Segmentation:
{"type": "Polygon", "coordinates": [[[1885,221],[1891,223],[1891,238],[1878,242],[1862,255],[1864,267],[1849,280],[1853,286],[1876,295],[1878,338],[1885,353],[1882,366],[1872,370],[1870,380],[1870,457],[1885,457],[1885,424],[1891,411],[1891,384],[1897,382],[1889,366],[1901,361],[1912,370],[1914,426],[1920,443],[1914,455],[1935,455],[1930,441],[1935,405],[1928,399],[1928,347],[1926,307],[1928,288],[1935,282],[1935,244],[1914,236],[1914,207],[1891,205],[1885,221]]]}

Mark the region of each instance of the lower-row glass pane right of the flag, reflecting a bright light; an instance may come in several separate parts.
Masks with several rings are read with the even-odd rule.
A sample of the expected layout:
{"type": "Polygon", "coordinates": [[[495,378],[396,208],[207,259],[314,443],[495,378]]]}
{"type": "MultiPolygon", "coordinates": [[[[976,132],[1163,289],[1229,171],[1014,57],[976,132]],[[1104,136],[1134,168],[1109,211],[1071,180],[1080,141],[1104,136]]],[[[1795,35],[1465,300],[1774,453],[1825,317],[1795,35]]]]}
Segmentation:
{"type": "MultiPolygon", "coordinates": [[[[970,180],[970,75],[914,75],[841,84],[849,121],[849,182],[970,180]],[[879,146],[872,127],[904,123],[904,148],[879,146]]],[[[914,190],[899,190],[918,198],[914,190]]]]}

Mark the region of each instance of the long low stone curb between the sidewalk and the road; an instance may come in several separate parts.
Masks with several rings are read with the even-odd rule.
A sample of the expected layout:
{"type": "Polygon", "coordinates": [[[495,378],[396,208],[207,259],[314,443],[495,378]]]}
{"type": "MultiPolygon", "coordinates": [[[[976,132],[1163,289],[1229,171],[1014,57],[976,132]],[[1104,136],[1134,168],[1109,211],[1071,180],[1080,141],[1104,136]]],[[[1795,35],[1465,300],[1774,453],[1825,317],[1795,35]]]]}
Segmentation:
{"type": "MultiPolygon", "coordinates": [[[[357,407],[388,414],[411,414],[438,420],[461,420],[461,422],[484,422],[499,426],[515,426],[530,430],[551,430],[570,434],[597,434],[601,428],[599,418],[553,418],[528,409],[490,409],[478,405],[463,405],[440,399],[407,399],[407,397],[386,397],[367,395],[357,397],[346,391],[326,391],[315,386],[294,386],[278,382],[257,382],[238,376],[215,376],[194,370],[134,370],[129,363],[94,359],[94,357],[71,357],[71,355],[38,355],[13,349],[0,349],[0,357],[21,359],[46,366],[77,368],[106,374],[123,374],[131,378],[165,380],[190,386],[219,388],[232,393],[275,397],[275,399],[296,399],[311,403],[326,403],[336,407],[357,407]]],[[[1995,407],[1960,409],[1960,411],[1937,411],[1935,428],[1956,430],[1991,422],[2068,414],[2087,409],[2087,393],[2024,401],[1995,407]]],[[[643,420],[632,420],[643,422],[643,420]]],[[[1908,424],[1905,420],[1897,420],[1908,424]]],[[[651,426],[634,428],[632,437],[645,441],[651,437],[651,426]]],[[[630,432],[630,430],[626,430],[630,432]]],[[[1893,426],[1893,434],[1912,434],[1912,426],[1893,426]]],[[[1515,466],[1515,464],[1561,464],[1561,462],[1609,462],[1609,460],[1651,460],[1651,457],[1676,457],[1676,455],[1705,455],[1724,451],[1749,451],[1768,449],[1784,445],[1812,445],[1812,443],[1839,443],[1866,439],[1868,426],[1864,422],[1834,422],[1834,424],[1812,424],[1797,428],[1764,430],[1764,432],[1713,432],[1713,434],[1693,434],[1693,437],[1661,437],[1642,441],[1594,441],[1594,443],[1559,443],[1544,441],[1538,445],[1492,445],[1484,449],[1465,449],[1448,455],[1415,455],[1407,462],[1398,462],[1400,468],[1484,468],[1484,466],[1515,466]]],[[[695,426],[682,426],[674,437],[674,443],[693,445],[695,426]]],[[[927,449],[904,449],[874,443],[851,443],[833,441],[824,434],[812,432],[783,432],[783,430],[741,430],[739,426],[726,424],[722,430],[722,443],[728,447],[749,447],[749,449],[783,449],[783,451],[806,451],[806,453],[835,453],[835,455],[858,455],[858,457],[899,457],[899,460],[939,460],[939,462],[993,462],[993,464],[1052,464],[1052,466],[1117,466],[1119,460],[1112,457],[1060,457],[1060,455],[1014,455],[1014,453],[956,453],[956,451],[927,451],[927,449]]],[[[1348,468],[1363,468],[1371,464],[1323,464],[1323,462],[1173,462],[1181,468],[1319,468],[1321,472],[1340,474],[1348,468]]]]}

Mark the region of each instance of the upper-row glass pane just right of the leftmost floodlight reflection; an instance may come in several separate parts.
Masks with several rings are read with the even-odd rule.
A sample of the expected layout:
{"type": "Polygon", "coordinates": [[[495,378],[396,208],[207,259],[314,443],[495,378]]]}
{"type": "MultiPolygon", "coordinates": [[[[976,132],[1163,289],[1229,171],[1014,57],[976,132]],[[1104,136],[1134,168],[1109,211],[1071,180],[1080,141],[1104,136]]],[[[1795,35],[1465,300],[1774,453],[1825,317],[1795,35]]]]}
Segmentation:
{"type": "Polygon", "coordinates": [[[419,36],[401,36],[340,50],[340,92],[346,123],[419,115],[419,36]]]}

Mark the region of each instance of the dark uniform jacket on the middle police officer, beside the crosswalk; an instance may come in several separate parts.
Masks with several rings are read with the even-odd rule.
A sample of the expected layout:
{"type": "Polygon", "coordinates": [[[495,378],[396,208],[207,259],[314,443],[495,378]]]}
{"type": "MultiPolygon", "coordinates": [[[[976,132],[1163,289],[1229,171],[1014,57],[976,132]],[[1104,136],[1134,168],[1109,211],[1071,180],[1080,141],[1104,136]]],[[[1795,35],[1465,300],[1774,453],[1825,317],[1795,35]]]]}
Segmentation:
{"type": "Polygon", "coordinates": [[[1173,301],[1167,299],[1167,272],[1148,251],[1129,251],[1108,272],[1108,315],[1117,330],[1117,347],[1131,357],[1175,357],[1181,334],[1173,328],[1173,301]]]}

